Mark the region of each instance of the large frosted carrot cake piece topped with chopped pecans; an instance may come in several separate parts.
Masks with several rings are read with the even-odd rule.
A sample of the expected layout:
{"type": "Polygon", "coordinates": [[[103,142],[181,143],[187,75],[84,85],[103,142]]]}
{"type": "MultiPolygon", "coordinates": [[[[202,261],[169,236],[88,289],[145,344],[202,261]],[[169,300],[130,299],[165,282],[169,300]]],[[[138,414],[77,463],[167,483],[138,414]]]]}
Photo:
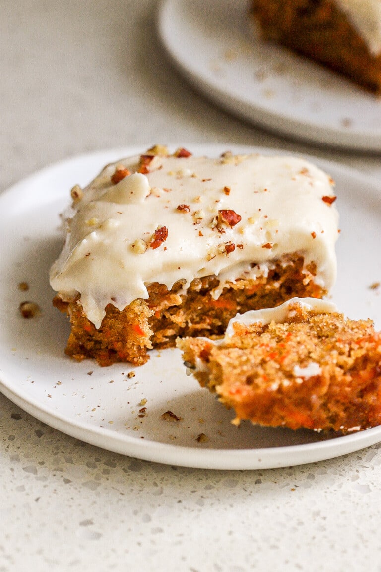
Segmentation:
{"type": "Polygon", "coordinates": [[[155,146],[71,191],[67,238],[50,271],[77,360],[147,361],[178,336],[335,281],[333,181],[298,157],[194,157],[155,146]]]}

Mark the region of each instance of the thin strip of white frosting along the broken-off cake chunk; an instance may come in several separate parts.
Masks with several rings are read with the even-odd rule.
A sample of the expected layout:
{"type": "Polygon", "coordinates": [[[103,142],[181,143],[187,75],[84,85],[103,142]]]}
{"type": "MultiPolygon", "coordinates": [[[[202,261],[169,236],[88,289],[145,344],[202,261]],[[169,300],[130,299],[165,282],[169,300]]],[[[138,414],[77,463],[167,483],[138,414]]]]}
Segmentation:
{"type": "Polygon", "coordinates": [[[277,324],[284,324],[291,317],[295,316],[295,310],[290,309],[290,305],[295,304],[295,302],[298,302],[302,308],[306,308],[306,310],[316,314],[329,314],[338,311],[336,305],[328,300],[318,300],[316,298],[292,298],[276,308],[251,310],[244,314],[237,314],[228,323],[225,336],[231,337],[234,334],[233,324],[251,325],[260,323],[262,325],[266,325],[270,324],[272,321],[277,324]]]}

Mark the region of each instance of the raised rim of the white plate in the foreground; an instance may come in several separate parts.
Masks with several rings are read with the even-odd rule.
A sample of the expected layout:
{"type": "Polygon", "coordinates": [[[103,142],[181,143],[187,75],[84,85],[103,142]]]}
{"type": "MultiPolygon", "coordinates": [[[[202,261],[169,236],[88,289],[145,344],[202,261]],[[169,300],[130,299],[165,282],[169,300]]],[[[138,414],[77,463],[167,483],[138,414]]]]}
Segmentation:
{"type": "MultiPolygon", "coordinates": [[[[273,149],[251,145],[226,145],[223,142],[213,142],[211,144],[189,143],[185,145],[187,148],[191,149],[193,146],[194,148],[200,149],[201,152],[208,152],[211,155],[222,152],[225,150],[226,146],[228,146],[228,148],[232,149],[234,152],[303,156],[306,160],[315,162],[315,164],[320,168],[327,170],[332,168],[338,170],[338,172],[343,176],[354,178],[356,182],[365,182],[367,185],[367,192],[370,192],[370,194],[376,194],[378,197],[381,196],[381,183],[375,177],[369,176],[366,173],[362,173],[335,161],[320,159],[308,154],[289,152],[284,149],[273,149]]],[[[169,144],[169,146],[176,147],[178,145],[169,144]]],[[[83,161],[99,160],[100,170],[108,157],[119,156],[120,158],[123,154],[134,154],[136,153],[137,147],[138,146],[134,145],[124,146],[122,148],[97,150],[69,157],[51,165],[47,165],[2,192],[0,194],[0,205],[3,201],[9,199],[11,194],[22,192],[22,189],[29,186],[33,181],[38,180],[41,177],[49,176],[49,174],[54,173],[57,169],[70,168],[70,165],[76,163],[81,164],[83,161]]],[[[139,145],[139,149],[144,147],[144,145],[139,145]]],[[[147,148],[149,148],[149,146],[147,146],[147,148]]],[[[94,446],[105,448],[106,450],[113,451],[118,454],[133,456],[135,458],[149,460],[151,462],[215,470],[256,470],[280,468],[319,462],[336,456],[346,455],[381,441],[381,425],[355,434],[343,435],[337,438],[327,439],[325,441],[255,449],[198,449],[162,442],[154,442],[149,439],[145,441],[137,440],[129,435],[122,435],[118,432],[110,431],[107,427],[97,427],[88,422],[83,422],[82,420],[80,422],[75,422],[73,418],[70,418],[67,415],[63,415],[54,410],[52,412],[50,407],[32,397],[23,390],[22,387],[17,388],[17,385],[15,386],[15,383],[17,384],[17,382],[12,382],[7,379],[8,376],[9,373],[3,371],[3,366],[0,366],[0,391],[30,415],[33,415],[35,418],[49,424],[49,426],[54,427],[66,435],[70,435],[73,438],[83,440],[94,446]],[[128,445],[128,451],[126,451],[126,444],[128,445]],[[233,464],[231,463],[232,458],[234,459],[233,464]]]]}

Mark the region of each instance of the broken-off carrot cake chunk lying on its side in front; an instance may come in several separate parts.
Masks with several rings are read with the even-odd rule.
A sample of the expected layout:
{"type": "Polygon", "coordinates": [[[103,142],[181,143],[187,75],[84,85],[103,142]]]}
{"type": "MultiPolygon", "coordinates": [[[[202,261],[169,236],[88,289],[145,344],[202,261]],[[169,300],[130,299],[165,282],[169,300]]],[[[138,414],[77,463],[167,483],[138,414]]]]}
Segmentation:
{"type": "Polygon", "coordinates": [[[222,340],[178,340],[235,423],[351,432],[381,423],[381,332],[334,304],[293,299],[236,316],[222,340]]]}

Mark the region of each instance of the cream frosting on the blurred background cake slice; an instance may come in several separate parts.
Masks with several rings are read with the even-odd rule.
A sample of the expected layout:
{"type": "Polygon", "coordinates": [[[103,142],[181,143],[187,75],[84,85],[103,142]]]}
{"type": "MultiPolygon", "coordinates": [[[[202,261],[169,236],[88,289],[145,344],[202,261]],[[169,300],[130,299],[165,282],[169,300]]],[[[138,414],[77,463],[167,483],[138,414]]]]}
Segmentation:
{"type": "Polygon", "coordinates": [[[381,1],[336,0],[336,3],[362,36],[370,53],[378,55],[381,52],[381,1]]]}

